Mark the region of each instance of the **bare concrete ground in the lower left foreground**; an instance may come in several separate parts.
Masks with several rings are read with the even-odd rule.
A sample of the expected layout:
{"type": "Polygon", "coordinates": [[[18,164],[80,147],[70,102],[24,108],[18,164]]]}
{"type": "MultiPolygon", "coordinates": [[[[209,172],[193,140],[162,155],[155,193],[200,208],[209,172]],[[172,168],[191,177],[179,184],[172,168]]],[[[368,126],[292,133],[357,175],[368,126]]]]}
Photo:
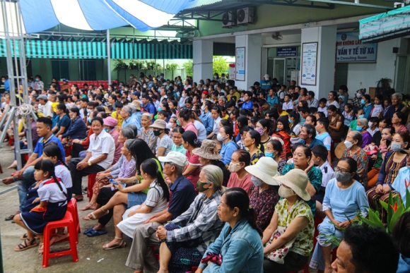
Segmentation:
{"type": "MultiPolygon", "coordinates": [[[[0,179],[10,176],[14,170],[7,170],[7,167],[13,162],[14,154],[10,147],[4,143],[0,148],[0,164],[4,174],[0,174],[0,179]]],[[[83,180],[86,185],[86,179],[83,180]]],[[[0,193],[3,190],[13,187],[14,185],[4,185],[0,183],[0,193]]],[[[85,207],[88,199],[78,202],[78,209],[85,207]]],[[[114,250],[103,250],[102,245],[110,242],[114,238],[114,225],[111,221],[107,225],[108,233],[97,237],[88,237],[83,233],[78,234],[78,262],[72,262],[71,255],[63,257],[54,257],[49,260],[49,267],[42,268],[42,255],[37,252],[37,248],[31,248],[22,252],[15,252],[13,248],[22,241],[20,236],[25,230],[11,221],[4,221],[5,217],[15,213],[18,210],[17,190],[11,190],[0,195],[0,233],[1,233],[1,250],[3,253],[3,267],[6,273],[37,273],[37,272],[134,272],[133,269],[125,266],[125,261],[129,253],[131,239],[125,238],[127,247],[117,248],[114,250]]],[[[81,219],[88,212],[79,212],[81,231],[92,227],[96,221],[84,221],[81,219]]],[[[69,243],[56,243],[52,245],[54,250],[69,249],[69,243]]],[[[1,263],[0,263],[1,272],[1,263]]]]}

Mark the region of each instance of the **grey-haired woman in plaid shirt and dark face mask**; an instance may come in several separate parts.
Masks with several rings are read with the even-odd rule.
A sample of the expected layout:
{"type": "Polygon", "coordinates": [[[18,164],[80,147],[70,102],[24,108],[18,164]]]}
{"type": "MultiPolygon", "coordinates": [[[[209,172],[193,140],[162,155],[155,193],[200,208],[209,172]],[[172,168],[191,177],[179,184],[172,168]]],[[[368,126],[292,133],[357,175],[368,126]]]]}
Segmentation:
{"type": "Polygon", "coordinates": [[[218,238],[223,222],[218,217],[223,173],[218,166],[201,169],[199,195],[189,209],[165,226],[158,227],[160,269],[158,272],[185,273],[199,265],[206,248],[218,238]],[[184,262],[181,262],[184,260],[184,262]]]}

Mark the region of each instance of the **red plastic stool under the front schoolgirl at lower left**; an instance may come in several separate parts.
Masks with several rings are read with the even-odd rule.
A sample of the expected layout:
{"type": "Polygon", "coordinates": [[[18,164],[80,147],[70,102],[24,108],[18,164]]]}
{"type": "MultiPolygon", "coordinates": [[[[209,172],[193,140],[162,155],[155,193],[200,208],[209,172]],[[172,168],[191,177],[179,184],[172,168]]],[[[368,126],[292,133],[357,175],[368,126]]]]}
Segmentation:
{"type": "Polygon", "coordinates": [[[43,238],[44,248],[43,248],[43,253],[42,253],[42,267],[48,267],[50,258],[60,257],[60,256],[65,256],[65,255],[72,255],[73,262],[78,262],[76,236],[69,236],[69,241],[70,241],[69,250],[59,251],[56,253],[50,253],[49,239],[51,238],[52,232],[54,231],[54,229],[61,228],[61,227],[67,227],[67,229],[69,230],[69,234],[77,235],[77,230],[76,230],[76,225],[74,224],[74,219],[71,216],[71,213],[68,211],[66,212],[66,215],[64,216],[63,219],[59,221],[49,222],[47,226],[45,226],[45,229],[44,229],[44,238],[43,238]]]}

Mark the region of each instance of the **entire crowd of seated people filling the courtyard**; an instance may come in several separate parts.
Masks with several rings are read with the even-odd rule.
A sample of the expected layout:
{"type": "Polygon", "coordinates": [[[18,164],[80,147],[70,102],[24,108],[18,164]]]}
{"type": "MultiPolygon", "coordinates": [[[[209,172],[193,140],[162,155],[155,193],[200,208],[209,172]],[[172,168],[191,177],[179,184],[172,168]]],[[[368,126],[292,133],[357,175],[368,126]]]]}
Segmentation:
{"type": "MultiPolygon", "coordinates": [[[[83,201],[83,177],[95,176],[79,206],[91,211],[83,233],[112,233],[103,250],[132,238],[125,265],[135,273],[409,272],[408,212],[392,236],[351,220],[372,209],[387,223],[380,200],[406,202],[410,97],[350,98],[341,85],[316,99],[269,75],[245,91],[217,73],[54,85],[30,92],[35,150],[2,180],[18,183],[19,210],[6,220],[25,233],[14,250],[41,253],[45,225],[83,201]],[[337,257],[329,237],[341,241],[337,257]]],[[[59,229],[52,243],[67,236],[59,229]]]]}

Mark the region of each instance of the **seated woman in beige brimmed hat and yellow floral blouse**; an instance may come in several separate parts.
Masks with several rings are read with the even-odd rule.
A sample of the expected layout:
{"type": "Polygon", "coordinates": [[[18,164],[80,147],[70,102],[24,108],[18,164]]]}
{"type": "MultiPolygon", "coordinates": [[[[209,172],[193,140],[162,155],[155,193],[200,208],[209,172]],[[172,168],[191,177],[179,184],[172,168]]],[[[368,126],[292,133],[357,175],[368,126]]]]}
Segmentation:
{"type": "Polygon", "coordinates": [[[293,169],[284,176],[276,176],[281,182],[281,200],[275,206],[271,223],[264,230],[264,272],[286,273],[302,268],[309,260],[313,248],[312,211],[306,186],[309,178],[305,171],[293,169]]]}

